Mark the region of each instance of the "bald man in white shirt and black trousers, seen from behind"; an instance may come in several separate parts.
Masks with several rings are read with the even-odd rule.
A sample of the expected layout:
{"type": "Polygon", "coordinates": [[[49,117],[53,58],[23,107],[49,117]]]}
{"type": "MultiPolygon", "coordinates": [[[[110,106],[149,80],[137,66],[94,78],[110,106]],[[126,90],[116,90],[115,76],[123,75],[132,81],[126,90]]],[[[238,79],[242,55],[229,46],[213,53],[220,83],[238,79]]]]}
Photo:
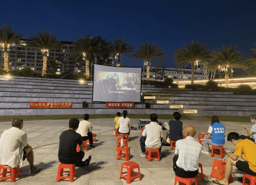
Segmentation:
{"type": "Polygon", "coordinates": [[[186,125],[182,130],[185,139],[176,141],[173,170],[175,175],[182,178],[193,178],[198,174],[198,161],[202,145],[194,139],[196,127],[186,125]]]}

